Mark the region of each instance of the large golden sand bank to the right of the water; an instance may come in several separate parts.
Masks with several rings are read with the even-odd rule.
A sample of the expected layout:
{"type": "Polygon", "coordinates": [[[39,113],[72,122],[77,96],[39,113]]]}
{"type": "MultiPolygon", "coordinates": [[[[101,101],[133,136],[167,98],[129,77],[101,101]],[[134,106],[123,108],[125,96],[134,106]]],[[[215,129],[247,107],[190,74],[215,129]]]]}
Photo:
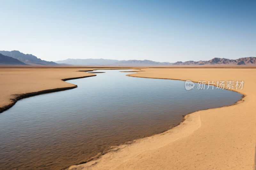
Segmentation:
{"type": "MultiPolygon", "coordinates": [[[[133,77],[192,81],[243,80],[243,101],[186,115],[162,134],[113,147],[68,169],[253,169],[256,144],[256,69],[147,68],[133,77]]],[[[211,97],[211,96],[209,96],[211,97]]]]}

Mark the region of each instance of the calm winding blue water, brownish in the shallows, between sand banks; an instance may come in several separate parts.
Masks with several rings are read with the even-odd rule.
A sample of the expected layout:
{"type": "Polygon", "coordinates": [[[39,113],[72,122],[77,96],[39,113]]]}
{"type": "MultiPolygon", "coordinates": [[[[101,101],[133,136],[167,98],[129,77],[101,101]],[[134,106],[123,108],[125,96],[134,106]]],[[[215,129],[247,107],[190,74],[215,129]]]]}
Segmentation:
{"type": "Polygon", "coordinates": [[[241,99],[228,90],[187,91],[179,80],[104,72],[68,80],[78,88],[22,99],[1,113],[0,169],[63,169],[109,146],[163,132],[189,112],[241,99]]]}

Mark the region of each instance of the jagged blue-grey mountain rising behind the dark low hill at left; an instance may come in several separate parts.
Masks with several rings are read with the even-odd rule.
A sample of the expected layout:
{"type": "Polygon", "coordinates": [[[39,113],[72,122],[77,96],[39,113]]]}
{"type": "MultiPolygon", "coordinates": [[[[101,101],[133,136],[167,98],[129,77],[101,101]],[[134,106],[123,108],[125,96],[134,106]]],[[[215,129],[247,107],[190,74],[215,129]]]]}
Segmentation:
{"type": "Polygon", "coordinates": [[[54,62],[49,62],[49,61],[45,61],[45,60],[41,60],[40,58],[37,58],[35,55],[32,54],[23,54],[20,51],[0,51],[0,54],[12,57],[12,58],[16,58],[19,61],[29,64],[29,65],[59,65],[57,63],[54,62]]]}

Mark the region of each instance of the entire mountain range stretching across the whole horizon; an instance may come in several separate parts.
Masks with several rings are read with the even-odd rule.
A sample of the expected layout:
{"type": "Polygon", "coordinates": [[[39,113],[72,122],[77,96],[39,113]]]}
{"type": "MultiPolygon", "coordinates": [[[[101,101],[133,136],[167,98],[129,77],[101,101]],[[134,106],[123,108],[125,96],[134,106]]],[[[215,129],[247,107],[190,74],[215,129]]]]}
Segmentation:
{"type": "Polygon", "coordinates": [[[244,57],[236,60],[226,58],[213,58],[208,61],[186,62],[155,62],[151,60],[110,60],[110,59],[71,59],[49,62],[41,60],[32,54],[24,54],[20,51],[0,51],[0,65],[88,65],[88,66],[171,66],[171,65],[245,65],[256,64],[256,57],[244,57]],[[8,58],[11,57],[11,58],[8,58]],[[13,60],[13,59],[15,60],[13,60]]]}

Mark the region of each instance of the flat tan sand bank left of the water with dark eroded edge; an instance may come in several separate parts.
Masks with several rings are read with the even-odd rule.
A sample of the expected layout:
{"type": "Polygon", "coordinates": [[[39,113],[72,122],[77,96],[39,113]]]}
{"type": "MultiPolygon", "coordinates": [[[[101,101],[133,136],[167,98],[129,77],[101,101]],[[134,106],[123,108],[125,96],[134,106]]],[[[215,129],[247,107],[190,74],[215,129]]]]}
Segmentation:
{"type": "MultiPolygon", "coordinates": [[[[76,88],[64,82],[69,79],[96,76],[83,70],[101,70],[113,68],[0,68],[0,113],[12,107],[18,99],[43,92],[54,92],[76,88]]],[[[114,68],[127,69],[127,68],[114,68]]]]}

